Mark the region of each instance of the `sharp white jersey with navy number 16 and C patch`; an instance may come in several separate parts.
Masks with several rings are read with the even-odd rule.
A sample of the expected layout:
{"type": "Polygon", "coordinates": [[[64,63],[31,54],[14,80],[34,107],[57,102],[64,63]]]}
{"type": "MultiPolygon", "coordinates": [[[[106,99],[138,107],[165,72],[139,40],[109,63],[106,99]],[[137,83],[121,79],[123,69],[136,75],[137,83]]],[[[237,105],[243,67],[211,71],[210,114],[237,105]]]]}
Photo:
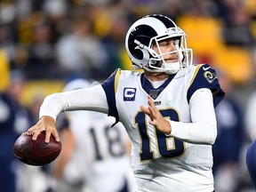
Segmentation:
{"type": "Polygon", "coordinates": [[[161,114],[173,121],[191,123],[189,99],[200,88],[212,90],[216,106],[223,92],[209,65],[193,66],[170,76],[158,88],[143,72],[117,69],[102,84],[109,116],[124,124],[132,140],[132,169],[137,190],[145,192],[213,191],[212,145],[193,144],[156,132],[140,111],[148,94],[161,114]]]}

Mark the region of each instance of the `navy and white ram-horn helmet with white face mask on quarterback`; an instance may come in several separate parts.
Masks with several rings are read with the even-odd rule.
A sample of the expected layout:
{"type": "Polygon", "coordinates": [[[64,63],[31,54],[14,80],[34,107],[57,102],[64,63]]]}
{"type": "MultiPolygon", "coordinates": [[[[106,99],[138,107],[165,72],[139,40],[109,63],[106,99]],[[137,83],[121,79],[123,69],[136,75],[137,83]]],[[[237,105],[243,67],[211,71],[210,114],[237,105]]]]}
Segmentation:
{"type": "Polygon", "coordinates": [[[134,69],[144,68],[149,72],[175,74],[192,65],[193,52],[187,48],[186,34],[164,15],[152,14],[134,22],[126,34],[125,48],[134,69]],[[175,45],[177,51],[162,53],[159,42],[168,38],[179,40],[175,45]],[[159,54],[152,49],[154,44],[158,47],[159,54]],[[164,55],[172,53],[178,53],[179,61],[165,62],[164,55]]]}

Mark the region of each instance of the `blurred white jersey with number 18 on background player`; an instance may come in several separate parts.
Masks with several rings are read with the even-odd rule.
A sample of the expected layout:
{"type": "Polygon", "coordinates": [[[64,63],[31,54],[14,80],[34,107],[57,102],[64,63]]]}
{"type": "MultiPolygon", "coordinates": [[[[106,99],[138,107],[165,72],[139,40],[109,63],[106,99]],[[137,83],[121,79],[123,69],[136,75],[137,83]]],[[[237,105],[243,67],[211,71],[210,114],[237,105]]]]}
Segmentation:
{"type": "Polygon", "coordinates": [[[92,192],[116,192],[126,182],[134,189],[131,157],[127,153],[130,142],[123,124],[115,118],[92,111],[66,112],[69,127],[75,134],[76,148],[64,171],[66,180],[85,179],[92,192]],[[109,185],[115,183],[115,185],[109,185]]]}

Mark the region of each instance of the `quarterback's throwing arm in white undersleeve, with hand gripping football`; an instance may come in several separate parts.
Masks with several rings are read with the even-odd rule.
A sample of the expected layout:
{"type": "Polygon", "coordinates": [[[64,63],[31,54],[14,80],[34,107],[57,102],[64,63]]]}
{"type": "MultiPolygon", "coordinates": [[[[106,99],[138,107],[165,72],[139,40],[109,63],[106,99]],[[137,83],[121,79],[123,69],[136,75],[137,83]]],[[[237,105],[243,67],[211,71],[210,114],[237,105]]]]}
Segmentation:
{"type": "Polygon", "coordinates": [[[33,133],[33,140],[36,140],[40,132],[45,131],[45,142],[49,142],[51,134],[56,141],[60,141],[55,125],[56,118],[61,112],[70,110],[92,110],[108,114],[108,102],[102,86],[98,84],[86,89],[47,96],[40,108],[39,121],[28,129],[28,134],[33,133]]]}

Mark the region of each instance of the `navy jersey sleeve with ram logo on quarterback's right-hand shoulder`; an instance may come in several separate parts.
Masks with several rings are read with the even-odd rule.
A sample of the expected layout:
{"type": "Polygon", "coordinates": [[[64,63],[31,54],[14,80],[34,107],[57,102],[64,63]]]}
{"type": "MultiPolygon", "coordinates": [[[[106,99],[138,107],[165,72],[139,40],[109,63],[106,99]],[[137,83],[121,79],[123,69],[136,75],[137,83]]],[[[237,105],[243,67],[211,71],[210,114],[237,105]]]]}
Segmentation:
{"type": "Polygon", "coordinates": [[[220,88],[219,80],[216,76],[216,71],[208,64],[197,66],[196,73],[188,88],[188,102],[191,99],[193,93],[201,88],[208,88],[212,91],[214,107],[216,107],[220,103],[220,100],[222,100],[225,96],[225,92],[223,92],[220,88]]]}

